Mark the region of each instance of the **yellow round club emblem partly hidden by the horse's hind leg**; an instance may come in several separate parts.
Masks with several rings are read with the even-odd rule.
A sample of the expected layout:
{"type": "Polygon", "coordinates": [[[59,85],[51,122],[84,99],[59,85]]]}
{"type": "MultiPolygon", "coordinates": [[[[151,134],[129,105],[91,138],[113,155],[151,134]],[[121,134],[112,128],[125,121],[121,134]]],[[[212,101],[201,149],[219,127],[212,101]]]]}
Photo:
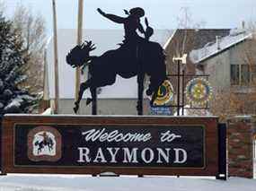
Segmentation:
{"type": "Polygon", "coordinates": [[[173,87],[169,80],[165,80],[157,91],[157,97],[154,105],[161,106],[173,99],[173,87]]]}

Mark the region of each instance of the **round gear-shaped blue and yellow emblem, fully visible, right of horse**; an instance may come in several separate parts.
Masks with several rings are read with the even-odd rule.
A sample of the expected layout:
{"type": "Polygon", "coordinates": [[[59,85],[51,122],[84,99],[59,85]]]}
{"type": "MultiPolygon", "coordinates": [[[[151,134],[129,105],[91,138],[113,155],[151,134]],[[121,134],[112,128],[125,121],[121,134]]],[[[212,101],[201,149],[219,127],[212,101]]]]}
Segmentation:
{"type": "Polygon", "coordinates": [[[212,97],[212,88],[203,78],[195,78],[188,82],[186,95],[190,103],[203,105],[212,97]]]}

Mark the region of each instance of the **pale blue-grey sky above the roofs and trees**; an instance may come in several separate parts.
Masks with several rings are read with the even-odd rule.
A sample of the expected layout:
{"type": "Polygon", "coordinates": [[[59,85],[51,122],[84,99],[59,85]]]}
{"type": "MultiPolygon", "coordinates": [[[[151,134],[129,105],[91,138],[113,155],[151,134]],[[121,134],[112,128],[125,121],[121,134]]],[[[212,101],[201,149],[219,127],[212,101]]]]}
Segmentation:
{"type": "MultiPolygon", "coordinates": [[[[1,1],[1,0],[0,0],[1,1]]],[[[11,16],[16,4],[31,8],[34,13],[41,13],[52,29],[52,0],[2,0],[6,13],[11,16]]],[[[78,0],[57,1],[57,28],[76,28],[78,0]]],[[[205,28],[235,28],[241,22],[256,22],[256,0],[84,0],[84,28],[117,29],[96,12],[98,7],[107,13],[125,15],[123,9],[141,6],[146,11],[149,22],[155,29],[175,29],[177,17],[184,15],[182,7],[189,7],[190,21],[204,22],[205,28]]],[[[190,23],[191,23],[190,22],[190,23]]]]}

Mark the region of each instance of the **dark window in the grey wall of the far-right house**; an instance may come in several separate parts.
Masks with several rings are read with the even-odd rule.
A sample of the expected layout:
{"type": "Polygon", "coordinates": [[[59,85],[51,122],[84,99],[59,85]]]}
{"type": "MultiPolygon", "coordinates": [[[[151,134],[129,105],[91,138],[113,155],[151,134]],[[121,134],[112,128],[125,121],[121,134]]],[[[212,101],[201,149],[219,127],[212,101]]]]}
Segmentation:
{"type": "Polygon", "coordinates": [[[231,65],[231,84],[248,85],[251,81],[249,65],[231,65]]]}

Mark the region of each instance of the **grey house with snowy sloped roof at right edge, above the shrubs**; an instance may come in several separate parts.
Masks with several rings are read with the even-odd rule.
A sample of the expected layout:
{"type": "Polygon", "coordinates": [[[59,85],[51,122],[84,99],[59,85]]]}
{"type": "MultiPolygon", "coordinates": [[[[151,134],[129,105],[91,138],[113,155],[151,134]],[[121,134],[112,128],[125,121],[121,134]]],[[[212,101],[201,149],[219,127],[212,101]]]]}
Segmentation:
{"type": "Polygon", "coordinates": [[[243,92],[255,79],[255,45],[252,32],[234,29],[228,36],[192,50],[190,60],[197,65],[198,74],[209,74],[209,82],[216,90],[232,87],[243,92]]]}

